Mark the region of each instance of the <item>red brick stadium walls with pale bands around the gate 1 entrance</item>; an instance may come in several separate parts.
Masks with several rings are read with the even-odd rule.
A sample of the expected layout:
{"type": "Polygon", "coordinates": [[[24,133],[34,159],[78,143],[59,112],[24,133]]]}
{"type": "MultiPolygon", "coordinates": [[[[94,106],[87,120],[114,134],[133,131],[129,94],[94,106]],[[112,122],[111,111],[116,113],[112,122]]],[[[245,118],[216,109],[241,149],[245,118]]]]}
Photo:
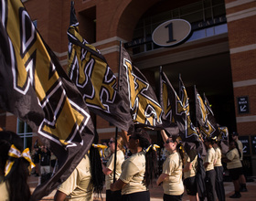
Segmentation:
{"type": "MultiPolygon", "coordinates": [[[[80,22],[80,34],[101,50],[112,70],[117,73],[119,41],[131,41],[133,39],[133,29],[140,17],[158,2],[160,0],[76,1],[75,9],[80,22]]],[[[178,1],[169,5],[168,1],[163,1],[162,6],[169,5],[171,8],[175,8],[194,2],[197,1],[178,1]]],[[[63,69],[67,69],[67,29],[69,27],[70,1],[27,0],[24,4],[32,20],[37,20],[37,30],[40,35],[57,54],[63,69]]],[[[246,2],[243,0],[225,0],[225,4],[228,19],[228,37],[205,39],[180,48],[155,51],[153,54],[134,57],[133,61],[142,64],[147,60],[151,62],[151,60],[160,59],[160,57],[182,54],[197,48],[207,48],[218,44],[219,47],[226,48],[226,45],[229,44],[228,50],[225,49],[225,51],[229,51],[230,57],[237,131],[240,135],[256,135],[256,106],[254,104],[256,102],[256,2],[252,0],[246,2]],[[238,113],[237,98],[240,96],[249,97],[250,113],[238,113]]],[[[161,5],[158,6],[155,9],[161,9],[161,5]]],[[[203,50],[202,53],[204,53],[203,50]]],[[[191,59],[193,54],[190,54],[189,57],[187,59],[191,59]]],[[[205,55],[202,55],[202,57],[205,57],[205,55]]],[[[176,60],[174,59],[172,62],[176,62],[176,60]]],[[[150,73],[147,70],[145,72],[146,74],[152,73],[152,71],[150,73]]],[[[0,121],[0,125],[5,122],[6,129],[16,132],[16,118],[14,116],[3,114],[0,121]]],[[[109,122],[101,119],[101,117],[97,117],[96,122],[100,139],[108,139],[113,136],[115,128],[110,126],[109,122]]]]}

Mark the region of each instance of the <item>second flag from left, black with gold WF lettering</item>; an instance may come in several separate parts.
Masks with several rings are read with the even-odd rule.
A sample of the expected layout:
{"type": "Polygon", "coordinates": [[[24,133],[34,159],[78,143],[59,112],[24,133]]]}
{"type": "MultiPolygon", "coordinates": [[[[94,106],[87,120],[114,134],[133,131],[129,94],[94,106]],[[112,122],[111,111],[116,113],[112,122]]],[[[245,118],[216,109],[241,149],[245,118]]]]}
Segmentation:
{"type": "Polygon", "coordinates": [[[117,79],[106,59],[80,36],[73,2],[68,37],[69,78],[80,90],[90,111],[127,132],[133,126],[130,110],[117,90],[117,79]]]}

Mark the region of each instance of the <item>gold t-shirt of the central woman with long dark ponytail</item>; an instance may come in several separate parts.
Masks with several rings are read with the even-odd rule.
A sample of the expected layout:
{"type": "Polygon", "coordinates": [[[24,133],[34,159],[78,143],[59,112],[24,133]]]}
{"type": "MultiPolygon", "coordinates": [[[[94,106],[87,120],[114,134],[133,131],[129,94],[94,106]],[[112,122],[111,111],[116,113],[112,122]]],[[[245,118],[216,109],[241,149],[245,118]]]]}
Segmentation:
{"type": "Polygon", "coordinates": [[[122,164],[121,179],[126,185],[122,189],[122,195],[147,191],[143,184],[145,172],[145,153],[134,153],[122,164]]]}

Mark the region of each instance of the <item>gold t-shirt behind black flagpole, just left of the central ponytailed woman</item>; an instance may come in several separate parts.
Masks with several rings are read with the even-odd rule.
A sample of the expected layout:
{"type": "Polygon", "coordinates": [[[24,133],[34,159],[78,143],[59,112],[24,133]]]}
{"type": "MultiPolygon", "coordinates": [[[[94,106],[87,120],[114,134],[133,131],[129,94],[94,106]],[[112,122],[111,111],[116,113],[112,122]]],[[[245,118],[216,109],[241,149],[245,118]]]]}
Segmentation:
{"type": "MultiPolygon", "coordinates": [[[[116,152],[116,171],[115,171],[115,178],[116,180],[119,178],[119,176],[122,173],[121,165],[124,161],[124,154],[121,150],[118,150],[116,152]]],[[[110,175],[105,176],[105,185],[106,190],[111,189],[111,184],[113,183],[113,169],[114,169],[114,154],[110,157],[110,160],[108,161],[106,167],[110,170],[112,170],[112,173],[110,175]]]]}

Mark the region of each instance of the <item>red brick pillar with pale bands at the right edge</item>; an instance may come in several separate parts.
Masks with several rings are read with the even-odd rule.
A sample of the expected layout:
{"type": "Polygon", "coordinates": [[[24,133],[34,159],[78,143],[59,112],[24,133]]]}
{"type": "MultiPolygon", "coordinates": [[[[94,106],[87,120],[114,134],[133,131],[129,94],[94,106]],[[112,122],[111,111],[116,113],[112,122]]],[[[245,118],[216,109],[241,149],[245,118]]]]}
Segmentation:
{"type": "Polygon", "coordinates": [[[229,28],[229,49],[234,83],[234,101],[237,116],[237,131],[240,135],[255,134],[255,90],[256,79],[256,2],[255,1],[227,1],[227,19],[229,28]],[[245,84],[241,84],[245,82],[245,84]],[[240,114],[238,111],[237,98],[249,97],[249,113],[240,114]],[[247,122],[246,122],[246,119],[247,122]],[[243,120],[245,122],[243,122],[243,120]]]}

